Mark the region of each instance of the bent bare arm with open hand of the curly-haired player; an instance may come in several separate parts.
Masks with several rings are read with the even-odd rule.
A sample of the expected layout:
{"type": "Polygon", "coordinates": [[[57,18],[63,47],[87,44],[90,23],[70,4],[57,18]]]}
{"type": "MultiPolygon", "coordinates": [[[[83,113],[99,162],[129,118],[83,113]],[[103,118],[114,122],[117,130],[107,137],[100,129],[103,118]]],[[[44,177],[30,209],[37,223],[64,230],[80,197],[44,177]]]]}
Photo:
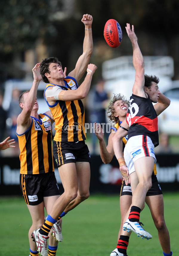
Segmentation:
{"type": "Polygon", "coordinates": [[[104,164],[109,164],[114,156],[114,150],[112,145],[112,137],[114,136],[115,132],[111,132],[108,138],[108,144],[106,146],[104,141],[104,132],[101,128],[100,124],[96,124],[95,122],[95,135],[99,140],[99,147],[100,147],[100,156],[104,164]]]}

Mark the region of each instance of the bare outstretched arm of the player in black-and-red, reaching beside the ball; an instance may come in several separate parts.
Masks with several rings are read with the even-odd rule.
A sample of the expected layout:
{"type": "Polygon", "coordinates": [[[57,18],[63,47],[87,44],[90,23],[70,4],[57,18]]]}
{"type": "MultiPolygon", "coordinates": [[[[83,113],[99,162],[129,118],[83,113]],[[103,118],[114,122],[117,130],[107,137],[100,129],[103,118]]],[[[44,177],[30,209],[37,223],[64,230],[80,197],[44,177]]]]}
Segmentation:
{"type": "Polygon", "coordinates": [[[135,95],[146,98],[144,92],[144,61],[141,50],[138,46],[138,39],[134,32],[134,26],[132,25],[132,30],[130,24],[126,24],[126,32],[130,38],[133,48],[133,65],[135,68],[135,82],[132,88],[132,92],[135,95]]]}

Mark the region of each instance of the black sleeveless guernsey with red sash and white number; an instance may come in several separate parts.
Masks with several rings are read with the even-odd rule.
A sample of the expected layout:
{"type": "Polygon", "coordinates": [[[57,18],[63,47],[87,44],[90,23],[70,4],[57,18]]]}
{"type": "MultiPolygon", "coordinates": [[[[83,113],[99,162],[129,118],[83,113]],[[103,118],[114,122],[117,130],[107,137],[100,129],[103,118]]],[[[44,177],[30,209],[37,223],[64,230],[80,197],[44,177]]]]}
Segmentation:
{"type": "Polygon", "coordinates": [[[147,135],[154,146],[158,146],[158,118],[152,101],[132,94],[126,115],[129,124],[128,140],[132,136],[147,135]]]}

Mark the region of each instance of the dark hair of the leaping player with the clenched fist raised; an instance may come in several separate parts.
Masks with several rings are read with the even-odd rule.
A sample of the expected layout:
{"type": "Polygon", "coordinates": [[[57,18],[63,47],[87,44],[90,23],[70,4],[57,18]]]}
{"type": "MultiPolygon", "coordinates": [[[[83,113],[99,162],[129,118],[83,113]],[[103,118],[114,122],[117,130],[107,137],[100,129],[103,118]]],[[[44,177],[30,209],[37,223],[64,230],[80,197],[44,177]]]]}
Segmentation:
{"type": "Polygon", "coordinates": [[[42,76],[42,81],[44,81],[47,84],[49,83],[49,81],[48,81],[47,77],[45,76],[45,73],[50,73],[50,71],[49,71],[50,63],[57,63],[57,64],[61,65],[61,62],[56,57],[45,58],[44,60],[42,60],[42,62],[40,64],[40,74],[42,76]]]}

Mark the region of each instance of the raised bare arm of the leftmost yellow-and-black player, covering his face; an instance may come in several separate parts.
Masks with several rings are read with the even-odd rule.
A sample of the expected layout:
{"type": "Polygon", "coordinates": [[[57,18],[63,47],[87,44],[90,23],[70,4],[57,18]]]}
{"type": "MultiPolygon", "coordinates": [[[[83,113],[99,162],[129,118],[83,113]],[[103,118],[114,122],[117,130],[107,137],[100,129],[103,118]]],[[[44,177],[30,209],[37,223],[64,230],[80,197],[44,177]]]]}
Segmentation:
{"type": "Polygon", "coordinates": [[[32,87],[25,101],[20,103],[20,107],[22,107],[23,109],[17,118],[16,131],[18,134],[22,134],[23,132],[25,132],[30,126],[32,121],[30,115],[36,101],[38,85],[42,79],[40,75],[39,66],[40,66],[40,63],[37,63],[33,68],[32,71],[33,71],[34,81],[33,81],[32,87]]]}

